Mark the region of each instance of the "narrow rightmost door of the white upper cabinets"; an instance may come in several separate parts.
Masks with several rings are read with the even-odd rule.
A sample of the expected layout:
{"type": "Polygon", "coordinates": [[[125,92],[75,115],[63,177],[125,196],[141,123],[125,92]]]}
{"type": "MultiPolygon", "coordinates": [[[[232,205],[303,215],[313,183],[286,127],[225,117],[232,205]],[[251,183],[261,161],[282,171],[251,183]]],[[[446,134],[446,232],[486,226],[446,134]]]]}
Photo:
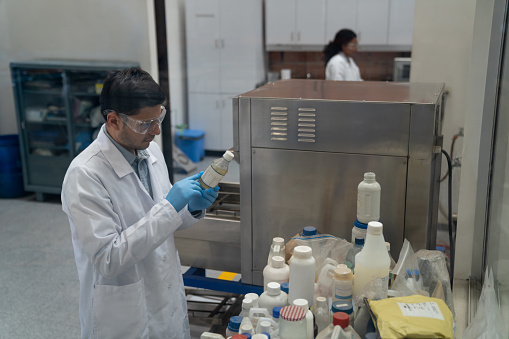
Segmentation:
{"type": "Polygon", "coordinates": [[[414,0],[391,0],[389,13],[389,45],[412,45],[414,0]]]}

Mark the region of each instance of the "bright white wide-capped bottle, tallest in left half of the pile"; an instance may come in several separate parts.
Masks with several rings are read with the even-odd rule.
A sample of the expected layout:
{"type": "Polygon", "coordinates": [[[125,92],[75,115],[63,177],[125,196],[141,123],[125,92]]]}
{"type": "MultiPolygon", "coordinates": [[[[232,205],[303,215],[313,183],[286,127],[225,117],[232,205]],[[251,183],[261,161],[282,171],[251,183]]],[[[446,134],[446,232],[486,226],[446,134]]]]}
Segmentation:
{"type": "Polygon", "coordinates": [[[308,305],[312,304],[315,288],[315,258],[311,247],[297,246],[290,258],[290,295],[288,303],[293,304],[295,299],[304,298],[308,305]]]}

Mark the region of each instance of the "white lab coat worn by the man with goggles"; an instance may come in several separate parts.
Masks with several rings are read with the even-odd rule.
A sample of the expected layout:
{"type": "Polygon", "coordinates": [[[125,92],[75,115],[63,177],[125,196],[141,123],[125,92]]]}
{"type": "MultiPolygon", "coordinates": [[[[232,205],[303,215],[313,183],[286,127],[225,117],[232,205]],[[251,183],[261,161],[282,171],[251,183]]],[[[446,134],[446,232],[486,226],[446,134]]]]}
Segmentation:
{"type": "MultiPolygon", "coordinates": [[[[101,128],[62,188],[80,280],[82,338],[190,338],[174,232],[194,224],[164,197],[171,183],[148,148],[154,198],[101,128]]],[[[203,215],[204,213],[202,213],[203,215]]]]}

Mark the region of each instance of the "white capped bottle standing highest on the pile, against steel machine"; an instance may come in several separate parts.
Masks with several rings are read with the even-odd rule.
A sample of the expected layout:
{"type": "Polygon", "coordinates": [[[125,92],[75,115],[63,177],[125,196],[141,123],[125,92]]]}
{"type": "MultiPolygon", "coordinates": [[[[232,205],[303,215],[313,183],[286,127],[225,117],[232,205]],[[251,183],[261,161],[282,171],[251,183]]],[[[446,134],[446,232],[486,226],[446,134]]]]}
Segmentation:
{"type": "Polygon", "coordinates": [[[364,173],[364,180],[357,189],[357,220],[363,224],[380,220],[381,187],[375,173],[364,173]]]}

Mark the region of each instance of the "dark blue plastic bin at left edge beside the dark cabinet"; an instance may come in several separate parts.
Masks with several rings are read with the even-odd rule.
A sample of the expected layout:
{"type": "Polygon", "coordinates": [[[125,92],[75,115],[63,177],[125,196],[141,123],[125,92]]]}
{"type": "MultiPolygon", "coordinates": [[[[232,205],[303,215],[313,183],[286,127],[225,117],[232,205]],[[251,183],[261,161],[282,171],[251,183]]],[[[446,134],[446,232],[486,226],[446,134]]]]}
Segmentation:
{"type": "Polygon", "coordinates": [[[0,135],[0,198],[12,199],[23,195],[18,136],[0,135]]]}

